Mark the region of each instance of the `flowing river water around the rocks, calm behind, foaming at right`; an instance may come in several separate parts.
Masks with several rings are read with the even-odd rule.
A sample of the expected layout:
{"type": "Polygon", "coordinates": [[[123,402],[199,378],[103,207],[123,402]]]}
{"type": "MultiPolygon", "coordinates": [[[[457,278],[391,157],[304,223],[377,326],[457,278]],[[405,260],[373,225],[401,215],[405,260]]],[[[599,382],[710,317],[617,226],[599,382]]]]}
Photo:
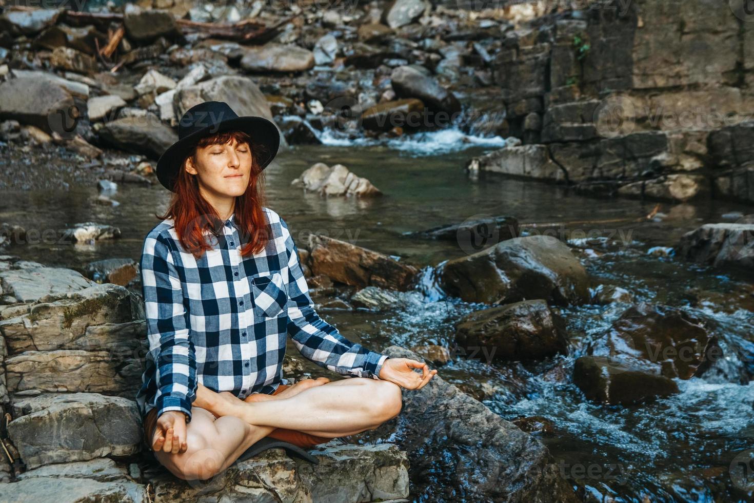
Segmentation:
{"type": "MultiPolygon", "coordinates": [[[[715,321],[715,333],[725,344],[754,355],[752,284],[679,262],[667,248],[704,222],[731,222],[736,215],[750,213],[750,208],[728,201],[661,204],[657,216],[645,219],[654,202],[595,198],[562,186],[502,176],[470,178],[463,169],[465,161],[485,148],[454,151],[448,142],[452,139],[431,137],[411,149],[299,146],[278,155],[265,170],[267,205],[286,219],[299,247],[306,232],[326,233],[422,269],[421,285],[406,305],[382,313],[317,309],[349,339],[378,350],[391,344],[453,347],[455,322],[489,306],[445,296],[434,282],[434,271],[443,261],[469,250],[452,241],[405,233],[510,215],[519,219],[525,235],[549,229],[568,240],[590,272],[593,286],[617,285],[633,293],[634,302],[663,303],[702,314],[715,321]],[[385,195],[369,200],[326,199],[290,187],[292,179],[317,161],[345,164],[385,195]],[[601,238],[595,238],[598,235],[601,238]]],[[[13,245],[8,253],[80,270],[97,259],[138,260],[146,232],[158,222],[153,213],[164,210],[169,193],[158,184],[121,184],[113,196],[121,203],[118,207],[91,202],[96,194],[94,187],[75,184],[65,190],[4,190],[0,222],[28,231],[60,230],[92,220],[116,225],[122,232],[122,238],[92,246],[29,238],[29,243],[13,245]]],[[[737,452],[754,447],[750,382],[676,379],[679,394],[636,406],[590,403],[572,384],[575,358],[627,307],[613,303],[562,309],[569,330],[568,356],[522,364],[488,363],[482,354],[456,355],[440,367],[439,376],[481,397],[504,419],[549,419],[553,431],[535,435],[588,501],[611,501],[605,499],[608,496],[615,501],[745,501],[729,471],[737,452]]],[[[289,352],[296,354],[293,345],[289,352]]],[[[752,357],[741,364],[752,367],[752,357]]],[[[412,483],[417,501],[431,501],[426,484],[412,483]]]]}

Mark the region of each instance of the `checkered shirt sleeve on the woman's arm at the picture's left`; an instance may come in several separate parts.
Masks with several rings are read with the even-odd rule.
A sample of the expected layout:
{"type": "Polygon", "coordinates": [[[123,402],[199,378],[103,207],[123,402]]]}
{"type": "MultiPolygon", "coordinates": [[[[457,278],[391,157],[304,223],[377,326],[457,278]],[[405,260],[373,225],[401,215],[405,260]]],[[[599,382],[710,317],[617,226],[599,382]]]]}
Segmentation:
{"type": "Polygon", "coordinates": [[[155,359],[155,407],[158,417],[181,410],[191,421],[196,398],[195,348],[189,338],[189,314],[169,241],[148,235],[140,263],[149,353],[155,359]]]}

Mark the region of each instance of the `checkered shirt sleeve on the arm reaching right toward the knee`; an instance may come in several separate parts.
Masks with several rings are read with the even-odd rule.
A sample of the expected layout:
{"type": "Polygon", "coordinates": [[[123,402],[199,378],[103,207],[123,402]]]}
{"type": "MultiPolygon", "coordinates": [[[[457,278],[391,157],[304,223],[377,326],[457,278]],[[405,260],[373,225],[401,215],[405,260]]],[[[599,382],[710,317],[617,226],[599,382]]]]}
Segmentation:
{"type": "Polygon", "coordinates": [[[342,376],[379,379],[388,356],[349,341],[317,315],[299,262],[299,250],[282,218],[280,226],[288,259],[288,334],[296,348],[308,360],[342,376]]]}

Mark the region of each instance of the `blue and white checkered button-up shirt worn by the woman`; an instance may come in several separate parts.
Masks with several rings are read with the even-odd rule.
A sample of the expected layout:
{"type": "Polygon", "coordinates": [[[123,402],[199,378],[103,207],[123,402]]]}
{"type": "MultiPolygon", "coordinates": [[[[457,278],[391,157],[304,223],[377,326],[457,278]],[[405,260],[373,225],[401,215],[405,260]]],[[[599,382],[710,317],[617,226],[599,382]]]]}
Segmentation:
{"type": "Polygon", "coordinates": [[[289,335],[320,367],[379,379],[388,356],[345,339],[320,319],[288,226],[274,210],[263,210],[270,241],[250,256],[241,256],[234,216],[200,259],[183,250],[173,219],[146,236],[140,265],[149,353],[136,394],[142,417],[157,407],[158,416],[182,410],[190,421],[198,382],[239,398],[271,394],[288,384],[283,357],[289,335]]]}

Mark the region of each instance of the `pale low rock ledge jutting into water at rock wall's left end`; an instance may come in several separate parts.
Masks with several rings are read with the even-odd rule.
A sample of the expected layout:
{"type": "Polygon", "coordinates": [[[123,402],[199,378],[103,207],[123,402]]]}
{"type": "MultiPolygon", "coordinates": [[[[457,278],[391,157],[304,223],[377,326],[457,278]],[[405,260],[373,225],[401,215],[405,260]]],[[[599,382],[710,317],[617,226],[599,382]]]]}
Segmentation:
{"type": "Polygon", "coordinates": [[[466,169],[472,172],[491,171],[554,182],[563,181],[567,176],[566,172],[550,159],[547,146],[544,145],[506,146],[471,158],[466,169]]]}

